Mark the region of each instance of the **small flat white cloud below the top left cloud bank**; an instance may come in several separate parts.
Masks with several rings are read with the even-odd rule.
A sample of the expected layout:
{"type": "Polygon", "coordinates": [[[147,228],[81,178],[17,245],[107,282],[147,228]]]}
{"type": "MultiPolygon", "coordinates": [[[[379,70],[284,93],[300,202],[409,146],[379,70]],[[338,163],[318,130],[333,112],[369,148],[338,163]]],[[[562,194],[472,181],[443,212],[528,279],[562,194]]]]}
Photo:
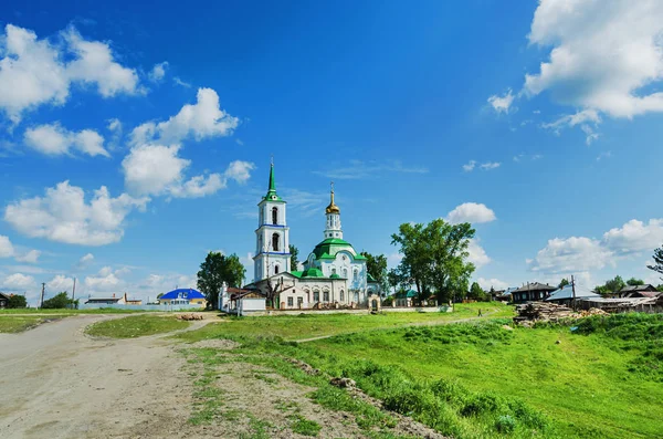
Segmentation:
{"type": "Polygon", "coordinates": [[[39,125],[28,128],[24,134],[25,145],[46,155],[70,154],[72,148],[88,156],[110,157],[104,148],[104,137],[93,129],[77,133],[63,128],[59,123],[39,125]]]}

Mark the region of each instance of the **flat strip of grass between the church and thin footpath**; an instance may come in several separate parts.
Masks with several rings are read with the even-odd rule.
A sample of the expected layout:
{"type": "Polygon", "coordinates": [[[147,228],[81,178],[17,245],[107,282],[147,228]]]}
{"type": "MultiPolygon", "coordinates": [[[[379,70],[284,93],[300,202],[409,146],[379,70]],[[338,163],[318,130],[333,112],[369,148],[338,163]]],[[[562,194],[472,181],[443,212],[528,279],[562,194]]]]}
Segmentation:
{"type": "MultiPolygon", "coordinates": [[[[368,330],[386,330],[417,324],[435,324],[476,317],[477,311],[491,317],[512,316],[513,307],[501,303],[457,304],[453,313],[381,313],[381,314],[301,314],[295,316],[232,317],[225,322],[211,323],[199,331],[178,337],[188,342],[207,338],[234,338],[241,336],[278,336],[287,341],[355,333],[368,330]]],[[[484,317],[488,318],[488,317],[484,317]]]]}

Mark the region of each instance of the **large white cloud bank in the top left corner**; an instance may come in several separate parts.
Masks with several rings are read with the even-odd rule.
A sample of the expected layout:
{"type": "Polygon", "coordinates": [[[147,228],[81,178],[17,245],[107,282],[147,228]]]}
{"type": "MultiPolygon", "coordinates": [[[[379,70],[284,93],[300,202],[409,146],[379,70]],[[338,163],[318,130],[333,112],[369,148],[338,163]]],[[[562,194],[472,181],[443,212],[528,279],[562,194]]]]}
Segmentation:
{"type": "Polygon", "coordinates": [[[104,97],[138,92],[136,71],[118,64],[107,43],[87,41],[74,28],[60,36],[62,43],[51,43],[31,30],[4,27],[0,35],[0,109],[14,124],[25,111],[63,105],[72,83],[94,85],[104,97]]]}

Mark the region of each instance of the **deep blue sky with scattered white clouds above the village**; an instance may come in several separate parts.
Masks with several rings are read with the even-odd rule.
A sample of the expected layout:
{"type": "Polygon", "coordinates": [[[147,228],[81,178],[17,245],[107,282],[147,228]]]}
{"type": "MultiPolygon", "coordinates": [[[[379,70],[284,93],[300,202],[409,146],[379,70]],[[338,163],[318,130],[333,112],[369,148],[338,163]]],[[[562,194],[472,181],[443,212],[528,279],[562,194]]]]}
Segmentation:
{"type": "Polygon", "coordinates": [[[253,276],[273,157],[299,259],[476,229],[473,280],[586,291],[663,244],[663,3],[0,6],[0,291],[148,300],[253,276]]]}

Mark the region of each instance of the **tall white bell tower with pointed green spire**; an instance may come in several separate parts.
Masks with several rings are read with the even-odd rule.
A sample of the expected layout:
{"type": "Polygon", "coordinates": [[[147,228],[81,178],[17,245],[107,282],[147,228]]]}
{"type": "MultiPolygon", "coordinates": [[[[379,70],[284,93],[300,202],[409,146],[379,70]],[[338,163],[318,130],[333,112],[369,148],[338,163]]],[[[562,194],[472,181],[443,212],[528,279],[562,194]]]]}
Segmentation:
{"type": "Polygon", "coordinates": [[[253,257],[254,282],[291,271],[290,228],[285,221],[285,205],[286,202],[276,194],[274,161],[272,161],[267,194],[257,205],[255,257],[253,257]]]}

